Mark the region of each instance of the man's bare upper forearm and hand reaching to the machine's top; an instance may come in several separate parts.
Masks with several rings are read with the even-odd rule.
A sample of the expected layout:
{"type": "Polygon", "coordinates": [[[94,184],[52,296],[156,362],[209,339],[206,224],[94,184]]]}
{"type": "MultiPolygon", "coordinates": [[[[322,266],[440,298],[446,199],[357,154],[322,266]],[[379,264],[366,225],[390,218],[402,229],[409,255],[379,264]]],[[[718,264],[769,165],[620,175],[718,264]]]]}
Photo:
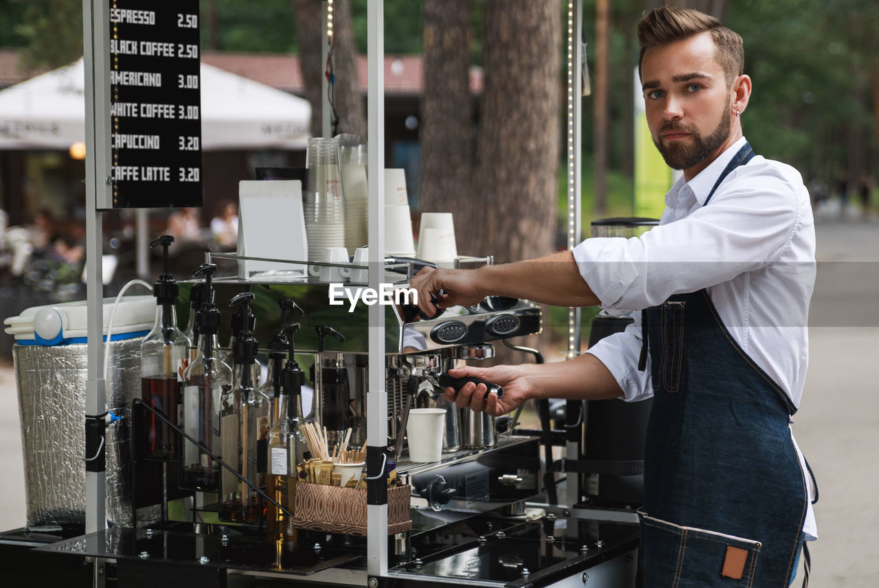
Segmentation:
{"type": "Polygon", "coordinates": [[[445,291],[439,301],[441,308],[475,305],[490,295],[556,306],[599,304],[570,251],[479,269],[425,268],[412,278],[410,287],[418,290],[418,306],[429,315],[434,312],[430,295],[439,290],[445,291]]]}

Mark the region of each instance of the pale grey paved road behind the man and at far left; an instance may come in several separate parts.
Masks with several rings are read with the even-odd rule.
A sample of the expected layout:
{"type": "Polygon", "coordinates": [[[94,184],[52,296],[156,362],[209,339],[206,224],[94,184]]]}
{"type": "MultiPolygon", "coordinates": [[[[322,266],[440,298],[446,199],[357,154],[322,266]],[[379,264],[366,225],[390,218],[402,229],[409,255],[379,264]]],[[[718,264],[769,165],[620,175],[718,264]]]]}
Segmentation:
{"type": "MultiPolygon", "coordinates": [[[[825,221],[817,236],[810,369],[794,426],[821,491],[812,585],[875,588],[879,222],[825,221]]],[[[15,381],[0,366],[0,530],[25,524],[22,468],[15,381]]]]}

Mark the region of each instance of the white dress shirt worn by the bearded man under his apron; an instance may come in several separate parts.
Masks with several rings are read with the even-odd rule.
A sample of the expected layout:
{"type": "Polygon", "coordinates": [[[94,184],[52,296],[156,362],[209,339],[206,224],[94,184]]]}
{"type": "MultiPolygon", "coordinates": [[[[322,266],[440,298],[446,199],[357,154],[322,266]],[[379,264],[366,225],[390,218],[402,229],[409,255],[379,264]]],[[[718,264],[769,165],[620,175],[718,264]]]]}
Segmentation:
{"type": "MultiPolygon", "coordinates": [[[[641,237],[592,238],[574,248],[580,275],[611,314],[660,305],[673,294],[708,289],[739,347],[795,406],[809,363],[807,320],[815,285],[815,225],[809,192],[790,166],[755,155],[717,178],[745,138],[665,196],[665,212],[641,237]]],[[[628,401],[653,395],[650,358],[638,370],[641,313],[624,333],[599,341],[595,355],[628,401]]],[[[799,448],[797,448],[799,453],[799,448]]],[[[805,470],[801,454],[801,465],[805,470]]],[[[807,487],[811,497],[811,484],[807,487]]],[[[817,537],[811,505],[803,530],[817,537]]]]}

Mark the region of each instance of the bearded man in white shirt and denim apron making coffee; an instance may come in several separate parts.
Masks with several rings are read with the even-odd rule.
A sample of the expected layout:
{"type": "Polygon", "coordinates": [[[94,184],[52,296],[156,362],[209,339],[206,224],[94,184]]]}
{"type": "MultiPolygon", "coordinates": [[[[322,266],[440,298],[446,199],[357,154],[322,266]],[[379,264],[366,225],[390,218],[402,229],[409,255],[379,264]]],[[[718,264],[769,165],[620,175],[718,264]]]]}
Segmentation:
{"type": "MultiPolygon", "coordinates": [[[[701,12],[659,8],[638,25],[650,133],[683,177],[659,226],[572,252],[412,279],[428,314],[488,294],[636,313],[625,333],[569,362],[462,368],[459,406],[499,415],[527,398],[652,396],[641,566],[648,588],[782,588],[817,536],[790,432],[808,362],[815,232],[801,176],[752,152],[742,39],[701,12]]],[[[808,562],[808,558],[807,558],[808,562]]]]}

